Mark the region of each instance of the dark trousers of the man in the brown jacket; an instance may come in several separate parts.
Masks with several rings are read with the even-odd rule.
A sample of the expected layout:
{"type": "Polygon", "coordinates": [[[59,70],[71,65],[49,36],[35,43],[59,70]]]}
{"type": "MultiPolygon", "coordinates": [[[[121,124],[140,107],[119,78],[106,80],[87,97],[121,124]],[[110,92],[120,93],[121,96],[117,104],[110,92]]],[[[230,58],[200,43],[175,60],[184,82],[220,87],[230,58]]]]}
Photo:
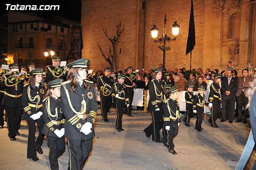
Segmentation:
{"type": "Polygon", "coordinates": [[[236,108],[237,108],[237,120],[242,120],[242,108],[244,106],[244,116],[243,121],[246,121],[249,111],[246,108],[246,104],[248,104],[248,98],[244,96],[244,92],[242,92],[239,96],[236,97],[236,108]]]}

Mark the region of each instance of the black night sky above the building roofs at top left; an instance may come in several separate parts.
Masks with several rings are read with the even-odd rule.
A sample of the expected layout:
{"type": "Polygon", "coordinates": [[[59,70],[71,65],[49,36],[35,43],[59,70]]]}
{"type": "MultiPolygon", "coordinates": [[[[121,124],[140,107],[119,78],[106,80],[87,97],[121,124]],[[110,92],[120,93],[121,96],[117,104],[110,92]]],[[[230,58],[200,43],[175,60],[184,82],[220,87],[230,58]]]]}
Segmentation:
{"type": "MultiPolygon", "coordinates": [[[[2,0],[0,12],[6,12],[6,4],[11,5],[60,5],[60,10],[18,10],[18,12],[37,13],[43,18],[52,18],[56,15],[70,18],[73,20],[81,20],[81,0],[2,0]]],[[[10,8],[10,7],[9,7],[10,8]]]]}

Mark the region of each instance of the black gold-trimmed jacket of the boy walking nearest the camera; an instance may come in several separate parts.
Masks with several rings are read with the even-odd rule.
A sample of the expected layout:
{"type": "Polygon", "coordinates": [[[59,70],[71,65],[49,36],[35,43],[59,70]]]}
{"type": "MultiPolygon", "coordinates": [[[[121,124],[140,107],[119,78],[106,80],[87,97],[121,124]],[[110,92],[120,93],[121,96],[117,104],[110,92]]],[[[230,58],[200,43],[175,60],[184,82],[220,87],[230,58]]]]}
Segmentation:
{"type": "Polygon", "coordinates": [[[164,102],[164,125],[180,123],[180,105],[172,98],[166,99],[164,102]]]}

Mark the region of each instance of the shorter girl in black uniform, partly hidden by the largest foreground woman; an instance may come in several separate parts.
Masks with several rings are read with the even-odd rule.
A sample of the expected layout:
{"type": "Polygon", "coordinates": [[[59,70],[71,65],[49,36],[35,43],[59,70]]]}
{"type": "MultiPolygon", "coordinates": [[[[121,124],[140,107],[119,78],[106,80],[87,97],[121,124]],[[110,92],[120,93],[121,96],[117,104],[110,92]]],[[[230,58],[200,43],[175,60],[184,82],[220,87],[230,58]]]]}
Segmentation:
{"type": "Polygon", "coordinates": [[[60,86],[63,79],[52,80],[47,84],[48,90],[43,100],[44,128],[42,134],[46,135],[49,145],[49,161],[52,170],[58,170],[58,157],[65,150],[64,123],[60,104],[60,86]]]}

